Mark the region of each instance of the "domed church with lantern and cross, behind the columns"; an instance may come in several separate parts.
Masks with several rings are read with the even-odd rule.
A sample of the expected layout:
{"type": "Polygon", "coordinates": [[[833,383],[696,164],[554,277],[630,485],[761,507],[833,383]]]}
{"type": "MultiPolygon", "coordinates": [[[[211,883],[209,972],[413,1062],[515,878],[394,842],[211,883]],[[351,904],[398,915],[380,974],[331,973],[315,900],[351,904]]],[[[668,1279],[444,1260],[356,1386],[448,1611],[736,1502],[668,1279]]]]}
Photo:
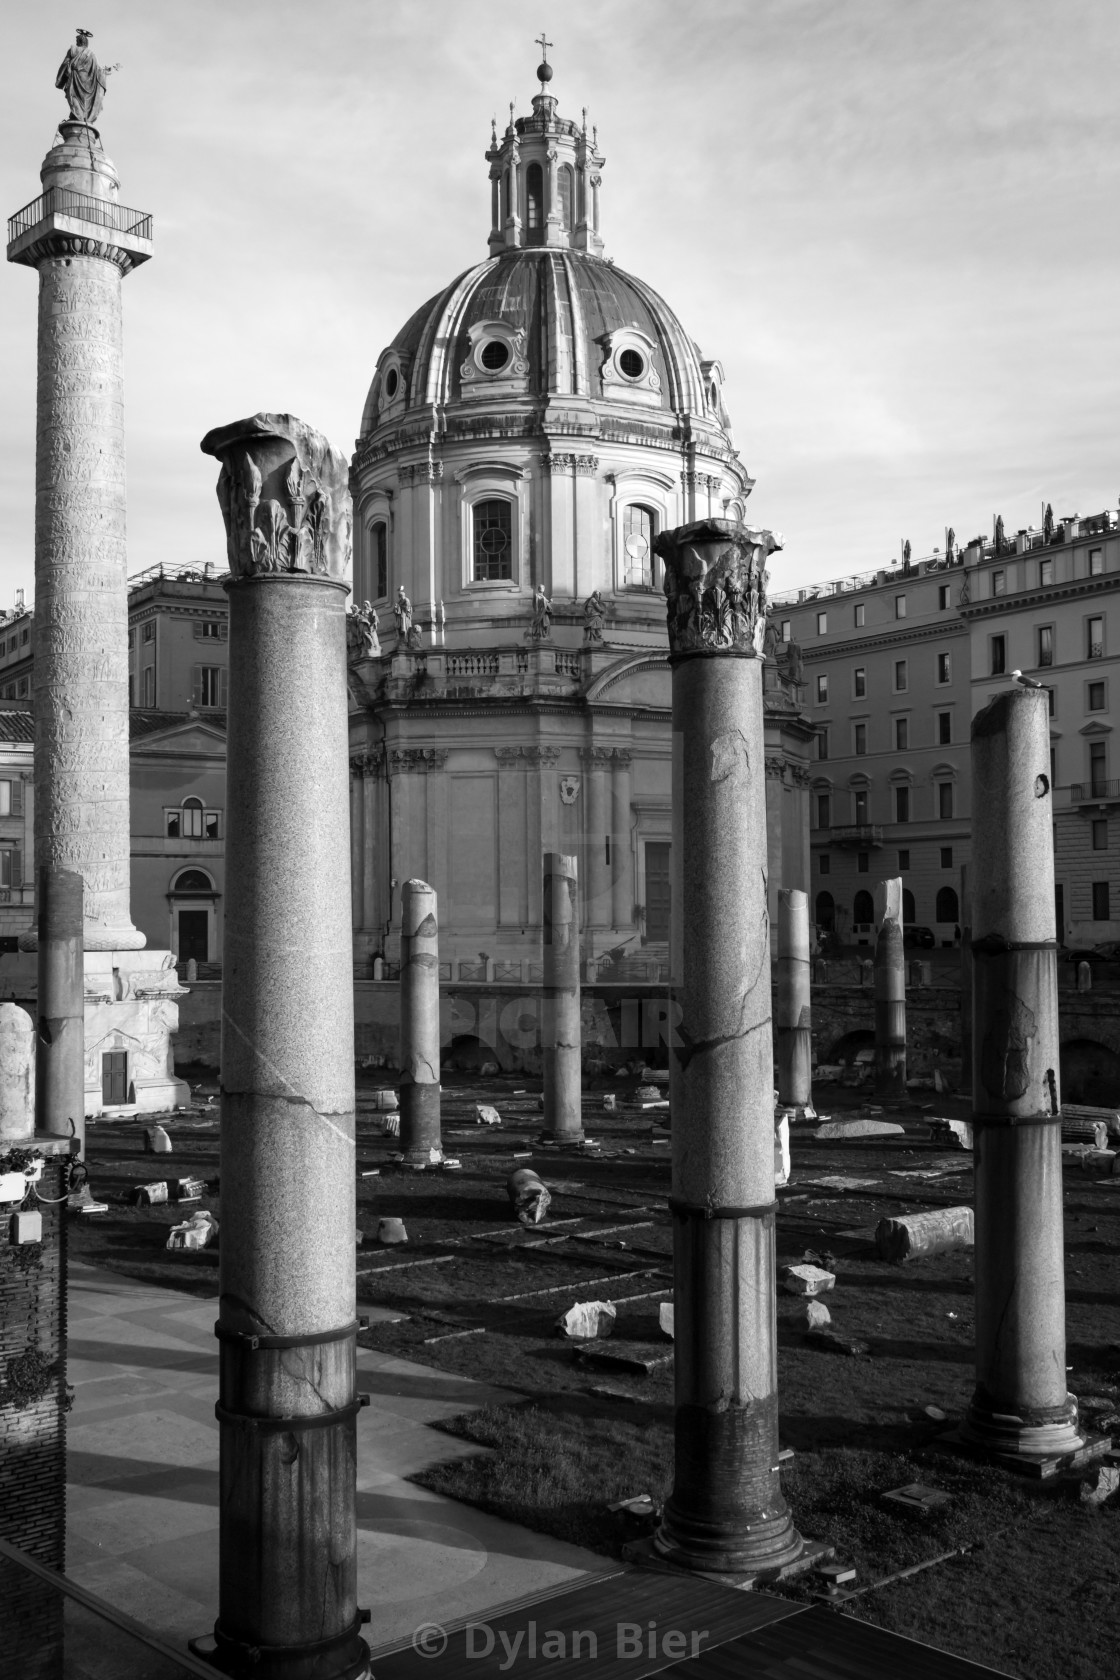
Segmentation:
{"type": "MultiPolygon", "coordinates": [[[[724,370],[603,255],[603,156],[557,113],[494,133],[489,255],[376,363],[351,467],[356,973],[410,877],[447,979],[537,981],[542,853],[578,857],[586,978],[668,978],[672,722],[658,531],[746,519],[724,370]],[[364,603],[364,605],[363,605],[364,603]]],[[[771,642],[772,647],[772,642],[771,642]]],[[[808,889],[813,726],[766,670],[771,914],[808,889]]],[[[378,964],[378,973],[381,968],[378,964]]]]}

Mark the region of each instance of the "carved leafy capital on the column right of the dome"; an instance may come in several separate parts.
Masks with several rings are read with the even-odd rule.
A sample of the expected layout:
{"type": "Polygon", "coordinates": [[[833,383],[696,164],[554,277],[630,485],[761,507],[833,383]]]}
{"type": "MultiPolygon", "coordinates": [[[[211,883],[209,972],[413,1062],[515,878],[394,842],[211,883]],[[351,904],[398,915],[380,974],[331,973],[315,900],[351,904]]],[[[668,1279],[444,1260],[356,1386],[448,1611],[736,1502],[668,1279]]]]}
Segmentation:
{"type": "Polygon", "coordinates": [[[759,654],[766,635],[766,561],[782,541],[735,519],[662,531],[668,652],[759,654]]]}

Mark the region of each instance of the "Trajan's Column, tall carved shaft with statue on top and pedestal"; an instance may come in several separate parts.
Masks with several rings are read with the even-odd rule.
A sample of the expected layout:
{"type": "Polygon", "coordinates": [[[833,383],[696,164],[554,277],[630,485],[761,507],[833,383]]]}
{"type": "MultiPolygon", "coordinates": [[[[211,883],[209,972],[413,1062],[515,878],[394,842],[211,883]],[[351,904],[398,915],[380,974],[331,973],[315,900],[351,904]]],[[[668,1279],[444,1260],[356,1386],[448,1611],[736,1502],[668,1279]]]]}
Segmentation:
{"type": "Polygon", "coordinates": [[[42,193],[8,220],[8,262],[39,270],[35,862],[84,882],[86,1114],[188,1097],[175,958],[146,951],[129,914],[121,281],[151,257],[151,217],[119,203],[94,128],[107,74],[79,30],[42,193]]]}

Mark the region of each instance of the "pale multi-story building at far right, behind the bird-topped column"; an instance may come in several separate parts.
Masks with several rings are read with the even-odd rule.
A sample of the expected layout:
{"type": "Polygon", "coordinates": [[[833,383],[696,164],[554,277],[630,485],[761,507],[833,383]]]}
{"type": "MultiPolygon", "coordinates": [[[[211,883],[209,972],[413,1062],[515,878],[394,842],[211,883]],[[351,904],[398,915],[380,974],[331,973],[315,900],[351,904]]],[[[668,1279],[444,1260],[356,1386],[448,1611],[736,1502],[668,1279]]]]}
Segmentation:
{"type": "MultiPolygon", "coordinates": [[[[1058,937],[1120,937],[1120,529],[1115,512],[1044,521],[964,551],[972,714],[1021,670],[1049,690],[1058,937]],[[1113,598],[1115,596],[1115,598],[1113,598]]],[[[979,796],[977,790],[977,796],[979,796]]]]}

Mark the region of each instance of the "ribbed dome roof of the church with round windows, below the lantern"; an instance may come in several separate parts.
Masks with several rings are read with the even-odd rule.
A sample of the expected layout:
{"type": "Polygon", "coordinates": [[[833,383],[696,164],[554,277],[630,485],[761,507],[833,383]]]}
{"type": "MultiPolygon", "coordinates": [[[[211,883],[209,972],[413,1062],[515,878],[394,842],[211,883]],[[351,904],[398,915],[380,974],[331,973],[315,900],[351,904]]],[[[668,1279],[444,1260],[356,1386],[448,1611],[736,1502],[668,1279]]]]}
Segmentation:
{"type": "Polygon", "coordinates": [[[727,423],[719,373],[714,380],[709,371],[717,365],[702,368],[700,351],[650,286],[584,250],[514,249],[467,269],[408,319],[378,360],[363,437],[410,408],[457,403],[463,371],[472,400],[489,395],[487,365],[470,358],[487,333],[502,331],[510,360],[495,396],[596,400],[610,385],[615,403],[727,423]],[[643,360],[626,390],[628,370],[643,360]]]}

